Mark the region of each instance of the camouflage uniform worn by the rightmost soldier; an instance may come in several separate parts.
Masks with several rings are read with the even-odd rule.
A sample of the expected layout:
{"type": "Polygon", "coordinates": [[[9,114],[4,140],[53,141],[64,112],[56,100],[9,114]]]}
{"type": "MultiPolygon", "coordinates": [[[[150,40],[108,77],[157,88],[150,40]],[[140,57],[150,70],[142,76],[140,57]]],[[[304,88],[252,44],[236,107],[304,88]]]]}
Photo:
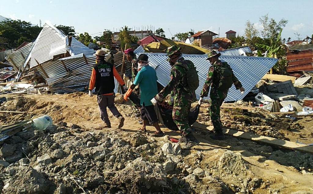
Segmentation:
{"type": "MultiPolygon", "coordinates": [[[[223,64],[228,65],[226,62],[224,62],[223,64]]],[[[207,97],[210,86],[212,85],[211,92],[210,92],[211,105],[209,109],[210,109],[211,121],[216,132],[222,132],[220,106],[222,105],[223,101],[227,97],[227,93],[228,93],[228,90],[218,89],[218,84],[219,84],[221,75],[219,75],[219,72],[217,71],[217,69],[218,69],[218,66],[220,65],[222,65],[222,62],[218,60],[209,68],[208,77],[204,83],[203,90],[200,95],[201,97],[207,97]]],[[[237,79],[237,77],[234,74],[232,76],[232,81],[237,90],[242,87],[240,81],[237,79]]]]}

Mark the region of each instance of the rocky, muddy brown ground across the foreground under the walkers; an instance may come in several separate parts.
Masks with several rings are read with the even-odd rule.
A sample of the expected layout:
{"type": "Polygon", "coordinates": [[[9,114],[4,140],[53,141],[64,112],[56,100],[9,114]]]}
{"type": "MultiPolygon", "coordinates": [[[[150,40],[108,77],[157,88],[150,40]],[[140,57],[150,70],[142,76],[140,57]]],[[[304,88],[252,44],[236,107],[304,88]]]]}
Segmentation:
{"type": "MultiPolygon", "coordinates": [[[[168,140],[180,134],[167,128],[162,138],[137,133],[130,102],[117,105],[124,127],[104,129],[95,96],[4,96],[1,110],[27,113],[1,114],[1,124],[48,114],[54,126],[2,144],[1,159],[8,162],[0,160],[3,193],[313,193],[311,154],[231,136],[215,141],[203,129],[195,134],[201,143],[182,150],[168,140]]],[[[109,116],[114,127],[117,119],[109,116]]],[[[222,121],[227,128],[313,143],[311,117],[223,109],[222,121]]],[[[211,125],[205,105],[198,122],[211,125]]]]}

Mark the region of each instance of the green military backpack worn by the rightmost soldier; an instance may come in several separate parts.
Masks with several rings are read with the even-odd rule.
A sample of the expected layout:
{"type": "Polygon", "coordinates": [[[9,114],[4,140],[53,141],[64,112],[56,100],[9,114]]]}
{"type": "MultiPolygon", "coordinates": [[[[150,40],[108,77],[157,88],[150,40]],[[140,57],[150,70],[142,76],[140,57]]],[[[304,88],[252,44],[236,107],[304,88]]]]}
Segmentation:
{"type": "Polygon", "coordinates": [[[213,79],[214,85],[218,90],[228,90],[233,85],[233,71],[231,67],[225,62],[214,66],[215,71],[217,71],[217,76],[215,80],[213,79]]]}

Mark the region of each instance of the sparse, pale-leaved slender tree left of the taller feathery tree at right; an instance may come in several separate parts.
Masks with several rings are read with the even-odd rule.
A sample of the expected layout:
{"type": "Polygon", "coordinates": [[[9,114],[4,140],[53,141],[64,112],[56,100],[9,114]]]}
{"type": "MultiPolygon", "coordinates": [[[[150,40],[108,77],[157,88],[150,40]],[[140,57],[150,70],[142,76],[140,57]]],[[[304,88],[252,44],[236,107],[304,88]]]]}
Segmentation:
{"type": "Polygon", "coordinates": [[[246,43],[250,49],[255,50],[256,44],[262,42],[262,39],[258,37],[259,31],[255,28],[254,24],[249,20],[246,22],[246,28],[244,30],[244,36],[246,43]]]}

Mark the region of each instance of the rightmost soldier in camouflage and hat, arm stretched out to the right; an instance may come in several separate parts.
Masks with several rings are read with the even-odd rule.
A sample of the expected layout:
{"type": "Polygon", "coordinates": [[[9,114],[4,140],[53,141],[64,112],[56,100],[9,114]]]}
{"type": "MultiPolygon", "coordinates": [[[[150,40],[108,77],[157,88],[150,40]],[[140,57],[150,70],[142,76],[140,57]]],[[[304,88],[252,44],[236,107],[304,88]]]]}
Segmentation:
{"type": "Polygon", "coordinates": [[[211,104],[209,110],[215,134],[210,137],[212,139],[220,140],[225,139],[222,131],[220,106],[227,97],[228,89],[232,86],[232,84],[234,84],[236,89],[239,89],[242,94],[244,93],[244,87],[233,74],[233,70],[227,62],[221,62],[221,60],[218,59],[221,54],[216,54],[214,51],[212,51],[212,54],[213,55],[207,58],[207,60],[209,60],[213,65],[209,68],[208,76],[200,95],[199,104],[202,103],[203,97],[208,96],[210,86],[212,86],[210,92],[211,104]]]}

